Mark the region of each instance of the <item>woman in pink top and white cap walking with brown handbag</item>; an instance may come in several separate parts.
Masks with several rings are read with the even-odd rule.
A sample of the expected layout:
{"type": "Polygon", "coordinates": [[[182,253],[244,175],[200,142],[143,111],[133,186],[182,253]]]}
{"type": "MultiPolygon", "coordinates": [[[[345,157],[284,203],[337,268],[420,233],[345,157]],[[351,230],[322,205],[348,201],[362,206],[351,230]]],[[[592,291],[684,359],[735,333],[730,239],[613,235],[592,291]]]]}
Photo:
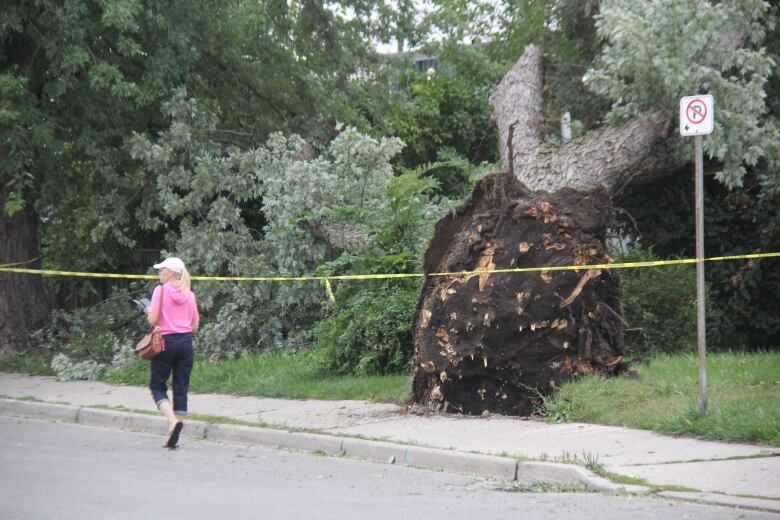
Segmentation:
{"type": "Polygon", "coordinates": [[[179,258],[166,258],[154,265],[159,270],[160,285],[154,288],[147,309],[149,324],[160,328],[163,351],[151,363],[149,390],[168,419],[166,448],[175,448],[187,415],[187,391],[195,360],[192,333],[198,331],[200,315],[195,293],[190,290],[190,274],[179,258]],[[168,377],[173,373],[173,405],[168,400],[168,377]]]}

